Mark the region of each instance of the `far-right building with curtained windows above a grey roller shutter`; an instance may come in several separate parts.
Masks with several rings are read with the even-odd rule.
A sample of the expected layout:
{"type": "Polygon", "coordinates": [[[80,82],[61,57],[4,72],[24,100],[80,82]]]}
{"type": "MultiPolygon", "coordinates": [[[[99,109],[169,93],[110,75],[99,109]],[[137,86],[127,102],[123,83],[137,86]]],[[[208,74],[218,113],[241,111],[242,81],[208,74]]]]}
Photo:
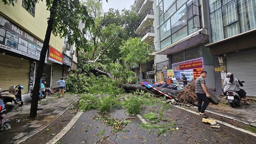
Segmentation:
{"type": "Polygon", "coordinates": [[[210,53],[214,56],[216,90],[221,93],[226,72],[245,81],[248,96],[256,96],[256,1],[207,0],[210,13],[210,53]]]}

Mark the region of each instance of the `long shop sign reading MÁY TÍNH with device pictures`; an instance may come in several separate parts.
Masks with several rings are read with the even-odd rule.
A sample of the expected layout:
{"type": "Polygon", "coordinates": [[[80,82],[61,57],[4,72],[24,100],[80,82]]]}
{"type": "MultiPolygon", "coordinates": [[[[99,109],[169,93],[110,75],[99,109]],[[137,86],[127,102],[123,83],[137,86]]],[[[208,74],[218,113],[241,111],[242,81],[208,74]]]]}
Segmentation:
{"type": "Polygon", "coordinates": [[[42,47],[42,41],[0,15],[0,48],[39,60],[42,47]]]}

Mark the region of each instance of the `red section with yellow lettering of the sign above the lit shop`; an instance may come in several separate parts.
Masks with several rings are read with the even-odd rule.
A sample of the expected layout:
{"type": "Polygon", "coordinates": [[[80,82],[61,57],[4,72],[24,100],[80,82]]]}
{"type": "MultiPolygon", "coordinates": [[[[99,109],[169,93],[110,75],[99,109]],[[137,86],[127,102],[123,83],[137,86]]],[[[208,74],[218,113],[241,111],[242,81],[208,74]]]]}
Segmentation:
{"type": "Polygon", "coordinates": [[[181,62],[179,63],[180,65],[180,70],[191,70],[194,68],[202,68],[203,65],[203,58],[199,58],[196,60],[191,60],[187,62],[181,62]]]}

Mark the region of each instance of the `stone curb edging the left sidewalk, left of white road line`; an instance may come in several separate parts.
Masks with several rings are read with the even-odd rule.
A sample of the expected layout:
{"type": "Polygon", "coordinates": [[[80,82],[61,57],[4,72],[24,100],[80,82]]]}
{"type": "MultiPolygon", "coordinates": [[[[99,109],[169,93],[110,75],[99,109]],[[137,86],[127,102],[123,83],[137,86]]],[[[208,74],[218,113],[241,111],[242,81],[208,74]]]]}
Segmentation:
{"type": "MultiPolygon", "coordinates": [[[[73,104],[74,102],[77,102],[78,101],[78,98],[76,100],[74,100],[73,102],[71,102],[70,104],[73,104]]],[[[70,106],[70,104],[68,106],[70,106]]],[[[50,126],[53,122],[55,122],[62,114],[64,114],[68,109],[69,107],[66,106],[66,108],[64,108],[64,110],[62,110],[60,113],[58,113],[55,118],[53,119],[52,122],[44,125],[44,126],[41,126],[35,130],[33,130],[32,132],[29,132],[28,134],[26,134],[25,136],[23,136],[22,138],[19,138],[17,140],[15,140],[14,142],[12,142],[13,144],[20,144],[22,143],[24,140],[27,140],[28,138],[30,138],[31,136],[34,136],[35,134],[37,134],[38,132],[40,132],[41,130],[43,130],[44,128],[50,126]]]]}

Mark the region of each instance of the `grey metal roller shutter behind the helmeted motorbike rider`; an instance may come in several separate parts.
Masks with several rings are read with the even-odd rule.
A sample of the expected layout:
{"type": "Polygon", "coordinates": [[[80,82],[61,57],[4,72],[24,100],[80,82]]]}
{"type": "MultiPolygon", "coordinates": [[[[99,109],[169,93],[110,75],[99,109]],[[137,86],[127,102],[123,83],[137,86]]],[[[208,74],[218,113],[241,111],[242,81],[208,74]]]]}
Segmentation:
{"type": "Polygon", "coordinates": [[[234,74],[235,78],[245,81],[241,87],[248,95],[256,96],[256,50],[230,54],[226,56],[226,72],[234,74]]]}

